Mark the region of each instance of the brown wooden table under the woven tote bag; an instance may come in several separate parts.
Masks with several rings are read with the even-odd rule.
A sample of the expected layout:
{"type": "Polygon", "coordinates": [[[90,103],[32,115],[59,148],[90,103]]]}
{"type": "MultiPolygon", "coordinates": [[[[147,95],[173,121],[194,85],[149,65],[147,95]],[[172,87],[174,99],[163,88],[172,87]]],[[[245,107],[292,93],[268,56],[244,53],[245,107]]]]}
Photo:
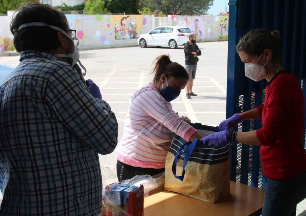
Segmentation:
{"type": "Polygon", "coordinates": [[[231,194],[211,204],[160,190],[144,199],[144,216],[260,215],[264,190],[231,181],[231,194]]]}

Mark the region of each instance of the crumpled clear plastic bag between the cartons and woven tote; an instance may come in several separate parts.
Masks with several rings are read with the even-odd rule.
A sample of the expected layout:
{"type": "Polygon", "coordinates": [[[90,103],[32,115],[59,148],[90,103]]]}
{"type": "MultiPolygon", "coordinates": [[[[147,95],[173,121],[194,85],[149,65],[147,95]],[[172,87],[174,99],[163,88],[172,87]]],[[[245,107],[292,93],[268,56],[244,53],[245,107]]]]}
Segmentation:
{"type": "Polygon", "coordinates": [[[156,188],[157,182],[150,175],[137,175],[131,179],[127,179],[121,182],[120,186],[126,186],[134,184],[135,186],[144,185],[144,197],[149,196],[149,192],[151,189],[156,188]]]}

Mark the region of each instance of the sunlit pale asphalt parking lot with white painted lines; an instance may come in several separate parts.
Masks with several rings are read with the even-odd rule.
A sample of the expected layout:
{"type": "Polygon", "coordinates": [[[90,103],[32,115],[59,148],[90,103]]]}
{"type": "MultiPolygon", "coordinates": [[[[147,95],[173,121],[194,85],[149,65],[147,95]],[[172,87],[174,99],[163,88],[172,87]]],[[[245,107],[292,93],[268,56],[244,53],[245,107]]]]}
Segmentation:
{"type": "MultiPolygon", "coordinates": [[[[187,99],[185,91],[172,102],[173,109],[192,122],[217,126],[226,114],[227,42],[199,43],[202,56],[194,82],[193,92],[198,97],[187,99]]],[[[169,54],[173,62],[184,65],[183,47],[170,48],[113,48],[80,52],[80,60],[87,69],[86,79],[92,79],[99,87],[103,99],[110,104],[119,123],[119,137],[123,133],[124,120],[130,96],[152,81],[152,63],[162,54],[169,54]]],[[[16,67],[19,56],[1,57],[0,64],[16,67]]],[[[117,181],[115,153],[100,155],[103,184],[117,181]]],[[[297,209],[297,215],[306,208],[306,201],[297,209]]],[[[300,215],[306,215],[300,214],[300,215]]]]}

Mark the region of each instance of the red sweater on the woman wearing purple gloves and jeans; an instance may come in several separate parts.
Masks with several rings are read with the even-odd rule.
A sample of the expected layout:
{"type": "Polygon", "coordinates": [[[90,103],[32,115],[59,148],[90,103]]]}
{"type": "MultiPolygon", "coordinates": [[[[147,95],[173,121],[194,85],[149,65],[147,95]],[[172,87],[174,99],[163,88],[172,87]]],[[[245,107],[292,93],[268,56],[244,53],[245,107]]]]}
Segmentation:
{"type": "Polygon", "coordinates": [[[263,127],[256,131],[265,177],[293,180],[306,171],[303,146],[304,96],[293,73],[280,71],[267,84],[264,104],[256,107],[263,127]]]}

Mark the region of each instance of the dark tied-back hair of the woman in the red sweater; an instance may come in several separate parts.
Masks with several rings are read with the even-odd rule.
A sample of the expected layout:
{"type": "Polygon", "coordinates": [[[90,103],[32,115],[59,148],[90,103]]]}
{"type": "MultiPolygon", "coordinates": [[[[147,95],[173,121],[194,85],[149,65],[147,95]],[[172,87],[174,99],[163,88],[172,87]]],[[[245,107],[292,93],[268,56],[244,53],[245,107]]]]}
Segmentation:
{"type": "Polygon", "coordinates": [[[244,35],[236,46],[236,51],[244,51],[251,55],[260,56],[265,49],[272,50],[272,60],[276,63],[282,61],[282,39],[280,31],[265,31],[257,29],[244,35]]]}

